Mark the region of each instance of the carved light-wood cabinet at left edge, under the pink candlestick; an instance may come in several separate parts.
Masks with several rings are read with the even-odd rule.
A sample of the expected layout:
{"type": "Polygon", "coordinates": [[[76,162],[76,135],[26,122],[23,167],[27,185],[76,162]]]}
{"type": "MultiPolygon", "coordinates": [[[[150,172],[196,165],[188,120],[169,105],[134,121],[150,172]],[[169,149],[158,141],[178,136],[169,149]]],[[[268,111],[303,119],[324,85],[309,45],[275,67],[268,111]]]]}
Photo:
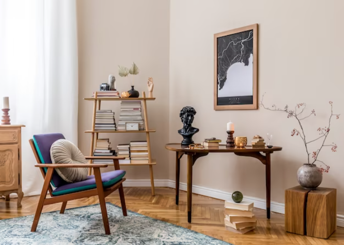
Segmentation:
{"type": "Polygon", "coordinates": [[[9,200],[18,194],[17,206],[22,207],[22,139],[24,125],[0,125],[0,196],[9,200]]]}

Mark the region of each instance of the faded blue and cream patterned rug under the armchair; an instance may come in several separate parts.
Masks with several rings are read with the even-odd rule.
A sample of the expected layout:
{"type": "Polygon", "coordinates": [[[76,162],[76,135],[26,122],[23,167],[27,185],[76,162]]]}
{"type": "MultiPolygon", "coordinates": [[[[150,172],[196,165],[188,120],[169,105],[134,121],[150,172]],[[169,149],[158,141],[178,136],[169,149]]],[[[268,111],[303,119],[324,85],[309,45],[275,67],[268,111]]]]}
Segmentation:
{"type": "Polygon", "coordinates": [[[107,203],[111,235],[105,235],[99,204],[44,213],[37,231],[33,216],[0,221],[0,244],[29,245],[229,245],[221,240],[107,203]]]}

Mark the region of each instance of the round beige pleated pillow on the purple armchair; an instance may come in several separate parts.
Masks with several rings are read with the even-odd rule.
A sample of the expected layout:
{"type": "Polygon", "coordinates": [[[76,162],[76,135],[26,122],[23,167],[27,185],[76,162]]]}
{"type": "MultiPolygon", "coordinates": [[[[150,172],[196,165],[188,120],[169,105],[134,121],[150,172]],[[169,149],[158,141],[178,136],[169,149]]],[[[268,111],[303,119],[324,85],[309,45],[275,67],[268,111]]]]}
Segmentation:
{"type": "MultiPolygon", "coordinates": [[[[57,140],[50,147],[52,163],[86,164],[85,156],[78,147],[68,140],[57,140]]],[[[73,183],[87,178],[87,168],[56,168],[57,174],[66,182],[73,183]]]]}

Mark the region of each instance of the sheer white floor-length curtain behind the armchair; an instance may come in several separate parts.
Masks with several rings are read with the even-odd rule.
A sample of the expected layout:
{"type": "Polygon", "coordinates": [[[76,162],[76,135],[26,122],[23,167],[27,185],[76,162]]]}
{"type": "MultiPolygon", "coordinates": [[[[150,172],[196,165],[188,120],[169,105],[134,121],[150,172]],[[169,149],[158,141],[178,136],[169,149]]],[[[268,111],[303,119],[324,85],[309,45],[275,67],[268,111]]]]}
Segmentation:
{"type": "Polygon", "coordinates": [[[53,132],[78,139],[75,0],[0,0],[0,103],[5,96],[11,124],[26,125],[23,192],[38,195],[43,178],[28,140],[53,132]]]}

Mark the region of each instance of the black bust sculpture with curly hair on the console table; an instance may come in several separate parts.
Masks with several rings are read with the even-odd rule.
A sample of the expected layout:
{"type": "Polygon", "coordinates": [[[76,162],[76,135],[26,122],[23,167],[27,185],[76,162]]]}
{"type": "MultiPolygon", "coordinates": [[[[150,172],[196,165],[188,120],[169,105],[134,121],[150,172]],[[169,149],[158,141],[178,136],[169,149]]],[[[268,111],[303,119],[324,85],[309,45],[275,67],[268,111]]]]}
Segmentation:
{"type": "Polygon", "coordinates": [[[178,133],[183,136],[183,141],[181,142],[182,145],[194,144],[192,136],[200,131],[200,129],[191,126],[191,123],[194,121],[195,114],[196,111],[191,106],[185,106],[179,113],[179,117],[183,123],[183,128],[178,130],[178,133]]]}

